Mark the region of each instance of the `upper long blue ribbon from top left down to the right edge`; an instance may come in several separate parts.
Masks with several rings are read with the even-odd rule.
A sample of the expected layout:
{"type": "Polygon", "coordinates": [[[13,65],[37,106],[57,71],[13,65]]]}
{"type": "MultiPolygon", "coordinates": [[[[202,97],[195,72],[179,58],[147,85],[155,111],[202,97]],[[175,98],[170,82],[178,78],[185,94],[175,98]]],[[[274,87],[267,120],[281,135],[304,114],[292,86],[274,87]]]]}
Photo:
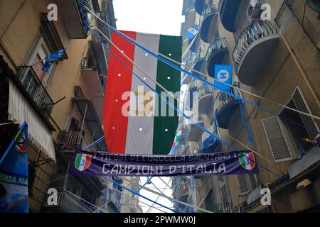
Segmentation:
{"type": "MultiPolygon", "coordinates": [[[[79,1],[79,2],[80,2],[80,1],[79,1]]],[[[80,4],[82,4],[82,3],[80,2],[80,4]]],[[[85,9],[86,9],[86,8],[85,8],[85,9]]],[[[86,10],[87,10],[87,9],[86,9],[86,10]]],[[[91,13],[89,10],[87,10],[87,12],[88,12],[88,13],[91,13]]],[[[92,14],[92,16],[97,17],[95,14],[92,14]]],[[[99,17],[97,17],[97,18],[102,21],[101,18],[99,18],[99,17]]],[[[164,59],[163,57],[161,57],[161,56],[159,56],[159,55],[156,55],[154,52],[151,52],[150,50],[144,48],[144,46],[142,46],[142,45],[140,45],[139,43],[135,42],[134,40],[128,38],[126,35],[120,33],[119,31],[117,31],[117,29],[113,28],[112,26],[110,26],[110,25],[109,25],[108,23],[106,23],[105,21],[102,21],[102,23],[105,23],[106,26],[108,26],[109,28],[111,28],[112,31],[114,31],[115,33],[117,33],[117,34],[119,34],[120,36],[122,36],[122,38],[124,38],[125,40],[128,40],[130,43],[133,43],[134,45],[136,45],[137,47],[139,47],[139,48],[141,48],[142,50],[146,51],[146,52],[149,53],[150,55],[156,57],[158,60],[160,60],[161,62],[164,62],[166,65],[169,65],[169,66],[173,67],[174,69],[176,69],[176,70],[178,70],[178,71],[180,71],[180,72],[184,72],[185,74],[188,74],[189,76],[194,77],[194,78],[200,80],[201,82],[203,82],[203,83],[205,83],[205,84],[208,84],[208,85],[214,87],[215,89],[219,89],[219,87],[215,86],[215,84],[213,84],[213,83],[208,82],[206,79],[202,79],[201,77],[198,77],[196,74],[193,74],[193,73],[191,73],[191,72],[188,72],[188,71],[182,69],[181,67],[176,66],[174,63],[170,62],[169,60],[166,60],[166,59],[164,59]]],[[[219,90],[220,90],[220,89],[219,89],[219,90]]],[[[278,116],[279,118],[282,118],[282,119],[284,119],[285,121],[289,121],[289,122],[291,122],[291,123],[296,124],[297,126],[300,126],[300,127],[302,127],[302,128],[306,128],[306,130],[308,130],[308,131],[314,131],[314,133],[317,133],[317,134],[320,133],[320,131],[317,131],[317,130],[315,130],[314,128],[310,128],[309,126],[304,126],[304,125],[302,125],[301,123],[298,123],[298,122],[296,122],[296,121],[292,121],[291,119],[286,118],[286,117],[284,117],[284,116],[279,116],[278,114],[275,114],[274,112],[272,112],[272,111],[270,111],[270,110],[268,110],[268,109],[265,109],[265,108],[263,108],[262,106],[259,106],[259,105],[257,105],[257,104],[252,103],[252,101],[248,101],[248,100],[246,100],[246,99],[243,99],[242,97],[237,96],[237,95],[235,95],[235,94],[232,94],[232,93],[230,93],[230,92],[228,92],[228,91],[222,91],[222,92],[225,92],[226,94],[229,94],[230,96],[233,96],[235,99],[240,99],[241,101],[245,101],[246,103],[248,103],[248,104],[250,104],[250,105],[252,105],[252,106],[255,106],[255,107],[258,108],[258,109],[262,109],[263,111],[266,111],[266,112],[269,113],[269,114],[272,114],[272,115],[274,115],[274,116],[278,116]]]]}

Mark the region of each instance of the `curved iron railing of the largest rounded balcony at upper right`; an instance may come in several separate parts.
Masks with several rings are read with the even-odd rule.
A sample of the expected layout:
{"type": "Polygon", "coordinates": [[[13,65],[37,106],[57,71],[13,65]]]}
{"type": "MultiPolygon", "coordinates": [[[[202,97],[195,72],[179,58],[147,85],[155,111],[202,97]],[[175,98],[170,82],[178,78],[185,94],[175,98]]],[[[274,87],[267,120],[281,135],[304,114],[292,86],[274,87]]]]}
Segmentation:
{"type": "Polygon", "coordinates": [[[233,50],[233,61],[235,62],[235,72],[238,74],[238,69],[242,58],[245,55],[247,49],[261,38],[265,38],[270,35],[277,35],[278,29],[272,25],[270,21],[255,21],[247,26],[245,30],[240,33],[235,49],[233,50]]]}

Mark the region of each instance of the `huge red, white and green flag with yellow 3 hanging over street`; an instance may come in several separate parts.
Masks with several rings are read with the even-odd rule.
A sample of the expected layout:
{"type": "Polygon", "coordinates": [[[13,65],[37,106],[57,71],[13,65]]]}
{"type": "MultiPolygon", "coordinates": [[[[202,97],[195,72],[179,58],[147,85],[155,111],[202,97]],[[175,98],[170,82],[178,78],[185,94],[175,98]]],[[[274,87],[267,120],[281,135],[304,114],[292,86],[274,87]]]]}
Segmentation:
{"type": "MultiPolygon", "coordinates": [[[[160,52],[181,62],[181,37],[132,31],[122,33],[153,52],[160,52]]],[[[115,32],[112,33],[112,43],[121,51],[112,45],[109,57],[103,123],[108,151],[168,155],[174,143],[178,114],[134,76],[133,72],[156,92],[164,92],[138,67],[129,62],[122,52],[152,79],[174,94],[180,91],[181,72],[149,55],[115,32]],[[128,95],[128,92],[131,93],[128,95]],[[165,116],[161,116],[161,106],[166,107],[165,116]]],[[[178,108],[177,101],[169,101],[178,108]]]]}

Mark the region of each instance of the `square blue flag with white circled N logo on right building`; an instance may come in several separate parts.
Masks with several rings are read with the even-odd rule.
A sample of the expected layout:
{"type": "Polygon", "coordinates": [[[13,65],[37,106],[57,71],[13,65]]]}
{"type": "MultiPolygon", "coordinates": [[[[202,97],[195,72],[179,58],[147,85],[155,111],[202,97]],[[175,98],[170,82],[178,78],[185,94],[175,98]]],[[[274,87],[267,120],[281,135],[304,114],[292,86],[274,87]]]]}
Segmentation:
{"type": "Polygon", "coordinates": [[[215,89],[229,91],[232,87],[228,86],[233,83],[233,66],[232,65],[215,65],[215,89]]]}

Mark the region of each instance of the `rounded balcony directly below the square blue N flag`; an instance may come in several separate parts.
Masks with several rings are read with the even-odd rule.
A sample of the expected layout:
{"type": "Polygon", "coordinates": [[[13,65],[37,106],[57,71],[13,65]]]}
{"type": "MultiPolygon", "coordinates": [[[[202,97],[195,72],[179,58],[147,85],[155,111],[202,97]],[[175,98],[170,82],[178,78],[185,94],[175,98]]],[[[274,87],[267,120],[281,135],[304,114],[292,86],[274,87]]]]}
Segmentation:
{"type": "MultiPolygon", "coordinates": [[[[240,95],[235,89],[231,89],[230,93],[240,95]]],[[[239,100],[225,92],[219,92],[215,98],[215,115],[216,121],[220,128],[228,129],[230,119],[235,114],[235,111],[240,107],[239,100]]]]}

